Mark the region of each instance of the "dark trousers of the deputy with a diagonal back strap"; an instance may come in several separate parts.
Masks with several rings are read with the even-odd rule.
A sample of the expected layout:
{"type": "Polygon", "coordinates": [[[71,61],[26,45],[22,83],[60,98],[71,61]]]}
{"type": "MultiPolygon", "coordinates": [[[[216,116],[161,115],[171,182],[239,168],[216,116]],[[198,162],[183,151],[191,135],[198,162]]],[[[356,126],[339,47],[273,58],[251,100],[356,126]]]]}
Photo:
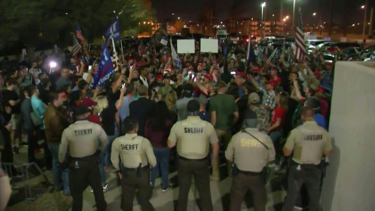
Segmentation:
{"type": "Polygon", "coordinates": [[[267,195],[263,178],[259,175],[245,175],[238,173],[233,176],[232,188],[230,189],[230,210],[237,211],[241,209],[246,192],[250,190],[255,211],[264,211],[267,202],[267,195]]]}

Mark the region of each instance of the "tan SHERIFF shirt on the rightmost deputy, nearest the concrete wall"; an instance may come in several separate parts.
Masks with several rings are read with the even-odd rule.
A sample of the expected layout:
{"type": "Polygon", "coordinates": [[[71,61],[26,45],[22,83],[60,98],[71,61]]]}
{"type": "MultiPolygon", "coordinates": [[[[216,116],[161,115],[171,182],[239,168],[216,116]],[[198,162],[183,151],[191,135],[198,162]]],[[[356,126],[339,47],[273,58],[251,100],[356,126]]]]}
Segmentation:
{"type": "Polygon", "coordinates": [[[315,121],[307,121],[290,131],[285,148],[293,150],[293,161],[299,164],[318,165],[322,161],[323,152],[330,151],[330,136],[315,121]]]}

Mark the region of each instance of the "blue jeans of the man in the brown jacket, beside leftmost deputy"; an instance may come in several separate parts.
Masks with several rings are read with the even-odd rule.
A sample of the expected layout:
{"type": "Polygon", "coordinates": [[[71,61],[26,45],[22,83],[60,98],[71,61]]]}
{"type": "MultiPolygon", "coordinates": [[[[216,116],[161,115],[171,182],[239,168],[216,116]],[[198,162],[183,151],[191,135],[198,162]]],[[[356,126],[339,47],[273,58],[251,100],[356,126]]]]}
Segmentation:
{"type": "Polygon", "coordinates": [[[52,154],[52,175],[55,189],[60,190],[63,188],[65,194],[70,194],[69,169],[64,169],[59,164],[59,145],[48,144],[48,148],[52,154]],[[61,184],[60,179],[62,180],[63,184],[61,184]]]}

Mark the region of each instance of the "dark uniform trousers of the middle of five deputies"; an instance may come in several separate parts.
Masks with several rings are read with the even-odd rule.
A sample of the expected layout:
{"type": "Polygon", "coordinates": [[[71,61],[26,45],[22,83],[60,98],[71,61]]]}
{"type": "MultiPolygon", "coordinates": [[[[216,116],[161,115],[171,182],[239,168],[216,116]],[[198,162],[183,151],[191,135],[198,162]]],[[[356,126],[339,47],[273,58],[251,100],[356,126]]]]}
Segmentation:
{"type": "Polygon", "coordinates": [[[180,191],[178,194],[178,211],[186,211],[187,197],[189,196],[192,177],[194,175],[195,184],[198,189],[201,207],[204,211],[211,211],[211,191],[209,187],[209,166],[205,160],[178,160],[178,183],[180,191]]]}

